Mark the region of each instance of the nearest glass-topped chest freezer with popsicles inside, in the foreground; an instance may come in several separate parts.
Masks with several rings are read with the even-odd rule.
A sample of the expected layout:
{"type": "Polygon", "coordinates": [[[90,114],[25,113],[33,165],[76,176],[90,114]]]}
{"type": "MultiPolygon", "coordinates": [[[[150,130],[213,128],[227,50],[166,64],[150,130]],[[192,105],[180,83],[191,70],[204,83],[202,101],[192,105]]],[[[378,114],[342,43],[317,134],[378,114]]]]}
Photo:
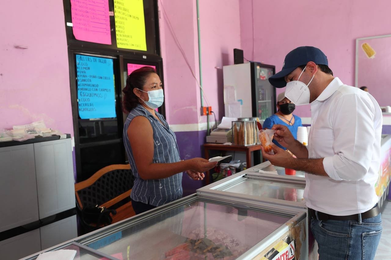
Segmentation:
{"type": "Polygon", "coordinates": [[[306,221],[306,212],[273,204],[193,194],[39,253],[70,249],[74,259],[307,259],[306,221]]]}

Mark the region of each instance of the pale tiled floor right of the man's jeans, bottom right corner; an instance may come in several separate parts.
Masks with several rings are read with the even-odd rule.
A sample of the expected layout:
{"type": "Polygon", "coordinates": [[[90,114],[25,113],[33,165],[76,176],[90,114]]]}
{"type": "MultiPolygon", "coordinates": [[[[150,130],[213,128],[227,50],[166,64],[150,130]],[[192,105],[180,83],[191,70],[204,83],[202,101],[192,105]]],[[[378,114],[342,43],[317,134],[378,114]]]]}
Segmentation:
{"type": "Polygon", "coordinates": [[[391,201],[382,213],[383,232],[376,251],[375,260],[391,259],[391,201]]]}

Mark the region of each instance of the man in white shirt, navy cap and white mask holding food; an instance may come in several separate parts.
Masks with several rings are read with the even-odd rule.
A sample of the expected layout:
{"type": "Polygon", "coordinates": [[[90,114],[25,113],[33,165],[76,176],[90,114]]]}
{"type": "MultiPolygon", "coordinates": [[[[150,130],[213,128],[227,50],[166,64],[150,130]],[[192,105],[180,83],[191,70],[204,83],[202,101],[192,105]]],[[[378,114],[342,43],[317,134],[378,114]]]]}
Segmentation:
{"type": "Polygon", "coordinates": [[[373,259],[382,232],[375,183],[380,167],[382,112],[376,100],[334,78],[326,55],[303,46],[289,52],[282,71],[269,78],[285,87],[295,105],[311,104],[308,148],[287,127],[274,138],[297,158],[273,145],[262,155],[275,166],[305,171],[304,198],[319,259],[373,259]]]}

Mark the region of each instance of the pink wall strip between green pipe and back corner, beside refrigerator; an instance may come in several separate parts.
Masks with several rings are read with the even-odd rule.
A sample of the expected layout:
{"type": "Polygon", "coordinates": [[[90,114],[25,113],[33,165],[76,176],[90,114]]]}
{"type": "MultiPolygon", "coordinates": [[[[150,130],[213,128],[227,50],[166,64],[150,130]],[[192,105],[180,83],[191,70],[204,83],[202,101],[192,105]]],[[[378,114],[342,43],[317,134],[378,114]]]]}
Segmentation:
{"type": "Polygon", "coordinates": [[[222,66],[233,64],[233,49],[240,49],[239,0],[200,0],[199,9],[204,93],[219,121],[224,116],[222,66]]]}

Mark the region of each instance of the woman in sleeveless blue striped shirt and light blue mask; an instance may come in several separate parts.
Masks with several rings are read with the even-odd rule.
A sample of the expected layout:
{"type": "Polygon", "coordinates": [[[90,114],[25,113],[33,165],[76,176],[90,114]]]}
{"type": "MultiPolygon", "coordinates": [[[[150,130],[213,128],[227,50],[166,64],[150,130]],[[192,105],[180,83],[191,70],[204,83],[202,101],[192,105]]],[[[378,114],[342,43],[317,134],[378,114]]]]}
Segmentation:
{"type": "Polygon", "coordinates": [[[131,200],[136,214],[182,197],[182,172],[203,180],[217,163],[204,158],[181,160],[176,136],[155,109],[163,104],[163,88],[156,71],[136,69],[126,80],[123,107],[124,146],[135,184],[131,200]]]}

